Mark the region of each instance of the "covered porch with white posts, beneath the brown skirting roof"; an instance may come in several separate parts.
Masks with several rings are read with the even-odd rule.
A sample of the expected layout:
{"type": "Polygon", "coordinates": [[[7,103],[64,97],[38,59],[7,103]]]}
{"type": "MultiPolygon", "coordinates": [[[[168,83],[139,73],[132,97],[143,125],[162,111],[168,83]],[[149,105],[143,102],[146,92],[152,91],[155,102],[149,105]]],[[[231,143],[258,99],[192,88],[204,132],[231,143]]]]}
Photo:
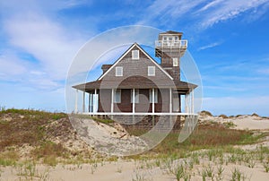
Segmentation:
{"type": "Polygon", "coordinates": [[[76,89],[74,113],[89,116],[196,116],[194,100],[193,89],[76,89]],[[82,105],[78,105],[79,93],[82,93],[82,105]]]}

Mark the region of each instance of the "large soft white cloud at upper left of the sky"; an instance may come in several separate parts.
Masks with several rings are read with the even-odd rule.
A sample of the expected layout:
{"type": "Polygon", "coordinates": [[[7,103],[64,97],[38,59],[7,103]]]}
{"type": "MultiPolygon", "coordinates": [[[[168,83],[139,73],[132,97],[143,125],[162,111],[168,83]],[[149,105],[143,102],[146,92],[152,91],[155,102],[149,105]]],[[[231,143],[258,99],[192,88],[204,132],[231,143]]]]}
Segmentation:
{"type": "Polygon", "coordinates": [[[4,22],[10,43],[20,47],[40,61],[53,79],[64,79],[72,58],[82,40],[70,36],[56,22],[37,13],[15,16],[4,22]]]}

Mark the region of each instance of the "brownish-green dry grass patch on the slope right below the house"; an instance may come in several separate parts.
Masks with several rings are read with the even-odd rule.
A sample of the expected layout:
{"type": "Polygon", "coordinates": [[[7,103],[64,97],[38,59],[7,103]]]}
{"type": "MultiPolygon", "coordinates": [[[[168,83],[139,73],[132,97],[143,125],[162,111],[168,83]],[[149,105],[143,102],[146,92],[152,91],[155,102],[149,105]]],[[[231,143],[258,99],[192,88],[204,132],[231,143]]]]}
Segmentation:
{"type": "MultiPolygon", "coordinates": [[[[128,132],[134,135],[145,133],[143,130],[129,129],[128,132]]],[[[198,125],[195,131],[185,142],[178,142],[178,133],[170,133],[158,146],[142,155],[162,155],[164,157],[174,155],[183,158],[190,151],[201,149],[213,149],[238,144],[250,144],[257,142],[265,134],[253,134],[249,131],[229,129],[218,123],[206,123],[198,125]]],[[[159,157],[158,156],[158,157],[159,157]]]]}

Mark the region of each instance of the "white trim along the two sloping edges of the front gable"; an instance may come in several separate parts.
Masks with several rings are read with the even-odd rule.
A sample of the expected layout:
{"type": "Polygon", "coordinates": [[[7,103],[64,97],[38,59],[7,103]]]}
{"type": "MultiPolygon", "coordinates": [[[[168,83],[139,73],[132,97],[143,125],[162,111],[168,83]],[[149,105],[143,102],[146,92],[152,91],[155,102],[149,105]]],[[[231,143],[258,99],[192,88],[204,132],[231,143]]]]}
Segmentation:
{"type": "Polygon", "coordinates": [[[120,62],[134,47],[138,47],[138,49],[140,50],[140,51],[142,51],[143,52],[143,54],[145,55],[145,56],[147,56],[148,58],[149,58],[149,60],[150,61],[152,61],[152,63],[154,64],[154,65],[156,65],[156,67],[158,67],[160,70],[161,70],[161,72],[163,72],[163,73],[165,73],[168,77],[169,77],[169,79],[170,80],[173,80],[173,77],[171,77],[171,75],[169,75],[169,73],[167,73],[162,67],[161,67],[161,65],[159,65],[153,58],[152,58],[152,56],[150,56],[150,55],[148,55],[148,53],[147,52],[145,52],[144,50],[143,50],[143,48],[142,47],[140,47],[137,43],[134,43],[131,47],[129,47],[127,50],[126,50],[126,52],[122,55],[122,56],[120,56],[118,59],[117,59],[117,61],[114,63],[114,65],[112,65],[112,66],[110,66],[110,68],[108,69],[108,71],[106,71],[106,73],[103,73],[101,76],[100,76],[100,78],[98,79],[98,81],[100,81],[104,76],[106,76],[116,65],[117,65],[117,63],[118,62],[120,62]]]}

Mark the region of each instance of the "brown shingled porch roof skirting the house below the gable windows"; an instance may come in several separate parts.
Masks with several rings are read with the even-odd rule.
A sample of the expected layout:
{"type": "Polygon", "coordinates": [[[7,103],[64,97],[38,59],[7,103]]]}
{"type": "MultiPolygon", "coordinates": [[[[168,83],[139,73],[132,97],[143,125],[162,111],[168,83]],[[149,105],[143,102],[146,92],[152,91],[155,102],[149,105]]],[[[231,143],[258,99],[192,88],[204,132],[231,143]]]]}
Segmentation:
{"type": "Polygon", "coordinates": [[[143,76],[132,76],[119,82],[114,80],[100,80],[94,82],[86,82],[79,85],[74,85],[73,88],[82,91],[91,91],[95,89],[152,89],[152,88],[172,88],[176,90],[189,91],[193,90],[197,85],[189,82],[158,80],[154,83],[150,79],[143,76]]]}

